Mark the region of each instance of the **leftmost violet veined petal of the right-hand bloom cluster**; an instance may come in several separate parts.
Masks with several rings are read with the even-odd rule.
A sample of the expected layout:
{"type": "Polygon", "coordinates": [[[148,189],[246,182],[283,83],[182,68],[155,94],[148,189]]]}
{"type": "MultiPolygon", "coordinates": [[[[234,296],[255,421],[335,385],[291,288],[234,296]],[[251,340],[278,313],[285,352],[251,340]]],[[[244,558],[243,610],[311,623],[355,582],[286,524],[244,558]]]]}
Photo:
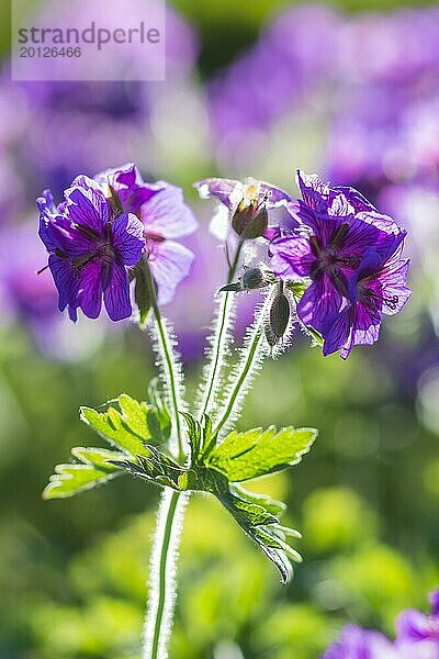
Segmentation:
{"type": "Polygon", "coordinates": [[[270,266],[279,277],[309,277],[316,264],[306,236],[275,238],[269,246],[270,266]]]}

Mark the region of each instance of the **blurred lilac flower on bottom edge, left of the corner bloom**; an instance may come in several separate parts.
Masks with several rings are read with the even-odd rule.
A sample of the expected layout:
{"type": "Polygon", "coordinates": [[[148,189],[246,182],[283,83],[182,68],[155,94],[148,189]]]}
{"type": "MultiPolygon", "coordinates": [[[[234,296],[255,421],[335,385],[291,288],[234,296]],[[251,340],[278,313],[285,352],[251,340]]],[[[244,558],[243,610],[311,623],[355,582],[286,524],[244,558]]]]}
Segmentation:
{"type": "Polygon", "coordinates": [[[383,634],[347,625],[322,659],[398,659],[398,655],[383,634]]]}

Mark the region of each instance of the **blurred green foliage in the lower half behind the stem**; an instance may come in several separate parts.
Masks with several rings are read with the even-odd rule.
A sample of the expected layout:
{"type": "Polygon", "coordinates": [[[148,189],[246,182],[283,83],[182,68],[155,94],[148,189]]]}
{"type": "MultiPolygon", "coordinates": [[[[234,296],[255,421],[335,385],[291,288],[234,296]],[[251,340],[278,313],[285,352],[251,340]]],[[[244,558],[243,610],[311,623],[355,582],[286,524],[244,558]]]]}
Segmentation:
{"type": "MultiPolygon", "coordinates": [[[[2,338],[0,656],[137,658],[158,490],[125,477],[67,501],[44,503],[41,490],[71,446],[95,440],[80,404],[142,398],[145,336],[110,335],[71,365],[41,357],[19,327],[2,338]]],[[[289,502],[304,563],[281,588],[217,502],[193,495],[172,658],[286,659],[294,647],[317,659],[347,621],[392,633],[397,612],[421,607],[439,580],[437,438],[378,355],[323,359],[300,342],[267,362],[239,426],[267,417],[320,428],[291,476],[251,482],[289,502]]]]}

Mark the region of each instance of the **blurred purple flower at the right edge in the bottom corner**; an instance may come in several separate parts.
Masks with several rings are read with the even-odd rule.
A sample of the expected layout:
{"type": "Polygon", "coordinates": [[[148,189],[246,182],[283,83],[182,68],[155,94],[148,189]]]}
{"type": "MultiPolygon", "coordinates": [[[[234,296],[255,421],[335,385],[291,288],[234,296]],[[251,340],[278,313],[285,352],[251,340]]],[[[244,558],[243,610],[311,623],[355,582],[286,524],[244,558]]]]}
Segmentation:
{"type": "MultiPolygon", "coordinates": [[[[396,643],[407,648],[428,643],[436,648],[434,659],[439,657],[439,589],[430,594],[431,614],[425,615],[416,608],[407,608],[396,619],[396,643]]],[[[428,646],[426,646],[428,647],[428,646]]]]}

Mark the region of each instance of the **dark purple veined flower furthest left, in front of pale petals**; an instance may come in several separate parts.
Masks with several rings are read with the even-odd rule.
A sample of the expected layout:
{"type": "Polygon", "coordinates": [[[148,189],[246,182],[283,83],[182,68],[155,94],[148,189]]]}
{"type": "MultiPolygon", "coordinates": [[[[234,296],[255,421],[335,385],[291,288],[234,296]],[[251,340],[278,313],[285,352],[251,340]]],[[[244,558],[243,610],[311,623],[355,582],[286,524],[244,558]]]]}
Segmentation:
{"type": "Polygon", "coordinates": [[[145,245],[143,226],[131,213],[114,213],[100,186],[77,177],[58,208],[46,190],[37,200],[40,237],[49,252],[59,293],[59,310],[77,320],[80,308],[90,319],[101,312],[102,297],[112,321],[132,313],[127,266],[135,266],[145,245]]]}

